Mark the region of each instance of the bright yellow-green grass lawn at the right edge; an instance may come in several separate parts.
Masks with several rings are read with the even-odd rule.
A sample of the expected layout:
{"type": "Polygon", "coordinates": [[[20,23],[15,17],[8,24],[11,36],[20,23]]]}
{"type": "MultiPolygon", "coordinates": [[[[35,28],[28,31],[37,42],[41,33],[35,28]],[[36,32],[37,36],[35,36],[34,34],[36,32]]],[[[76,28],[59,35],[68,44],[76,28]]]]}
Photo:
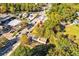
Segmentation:
{"type": "Polygon", "coordinates": [[[66,32],[64,34],[69,34],[69,37],[74,40],[74,42],[79,42],[79,25],[68,25],[65,30],[66,32]],[[75,39],[74,36],[76,36],[75,39]]]}

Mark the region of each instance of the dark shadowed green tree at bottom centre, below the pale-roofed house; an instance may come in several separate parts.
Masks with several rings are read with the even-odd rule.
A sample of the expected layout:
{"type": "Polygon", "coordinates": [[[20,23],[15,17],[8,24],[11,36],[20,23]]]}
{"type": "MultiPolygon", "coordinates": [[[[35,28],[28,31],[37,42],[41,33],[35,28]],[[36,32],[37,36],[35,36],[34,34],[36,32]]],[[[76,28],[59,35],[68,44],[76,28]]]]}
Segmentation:
{"type": "Polygon", "coordinates": [[[46,56],[49,49],[54,49],[55,45],[49,44],[49,45],[38,45],[35,48],[33,48],[30,52],[31,56],[46,56]]]}

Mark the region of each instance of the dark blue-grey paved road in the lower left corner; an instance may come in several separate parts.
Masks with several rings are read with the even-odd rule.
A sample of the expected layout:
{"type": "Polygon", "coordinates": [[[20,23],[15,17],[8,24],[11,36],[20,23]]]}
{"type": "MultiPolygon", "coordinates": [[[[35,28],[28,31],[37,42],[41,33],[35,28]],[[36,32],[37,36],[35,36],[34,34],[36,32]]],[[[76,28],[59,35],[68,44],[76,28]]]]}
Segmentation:
{"type": "Polygon", "coordinates": [[[9,40],[3,48],[0,48],[0,56],[8,53],[12,49],[12,46],[17,43],[18,40],[18,38],[12,38],[11,40],[9,40]]]}

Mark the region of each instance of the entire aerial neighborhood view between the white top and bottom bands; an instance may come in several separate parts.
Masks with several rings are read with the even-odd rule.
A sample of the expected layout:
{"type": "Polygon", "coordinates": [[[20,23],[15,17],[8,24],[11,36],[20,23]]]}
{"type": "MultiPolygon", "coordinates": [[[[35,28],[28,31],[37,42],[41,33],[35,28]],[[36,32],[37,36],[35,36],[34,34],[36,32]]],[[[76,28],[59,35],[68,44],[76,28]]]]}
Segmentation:
{"type": "Polygon", "coordinates": [[[0,56],[79,56],[79,4],[0,3],[0,56]]]}

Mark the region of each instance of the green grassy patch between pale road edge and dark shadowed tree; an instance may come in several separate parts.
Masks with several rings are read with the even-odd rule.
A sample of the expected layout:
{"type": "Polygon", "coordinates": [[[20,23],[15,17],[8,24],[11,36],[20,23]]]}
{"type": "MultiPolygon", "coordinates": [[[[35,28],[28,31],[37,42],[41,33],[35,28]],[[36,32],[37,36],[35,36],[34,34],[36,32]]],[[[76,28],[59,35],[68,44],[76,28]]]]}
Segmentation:
{"type": "Polygon", "coordinates": [[[30,48],[28,46],[20,45],[12,54],[11,56],[28,56],[30,48]]]}

